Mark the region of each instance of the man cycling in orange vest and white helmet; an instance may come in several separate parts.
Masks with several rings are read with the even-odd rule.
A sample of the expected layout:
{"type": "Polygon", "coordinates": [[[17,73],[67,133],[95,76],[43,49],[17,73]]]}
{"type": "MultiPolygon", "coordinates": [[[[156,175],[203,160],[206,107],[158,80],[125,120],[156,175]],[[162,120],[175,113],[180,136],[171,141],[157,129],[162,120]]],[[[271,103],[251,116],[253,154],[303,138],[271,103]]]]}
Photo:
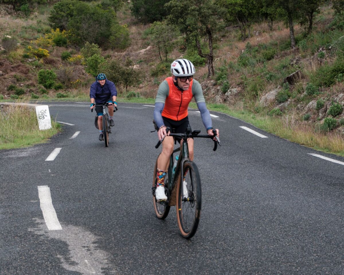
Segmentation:
{"type": "MultiPolygon", "coordinates": [[[[171,73],[172,76],[166,78],[159,86],[153,113],[155,123],[157,123],[159,128],[159,140],[166,136],[162,142],[162,152],[158,158],[158,181],[157,188],[155,189],[155,198],[157,200],[167,200],[164,180],[174,147],[174,139],[172,136],[169,136],[170,132],[166,133],[166,127],[169,127],[171,131],[172,128],[175,129],[175,133],[184,133],[186,128],[190,127],[187,108],[192,97],[195,98],[198,110],[201,112],[201,118],[208,135],[214,135],[212,120],[205,105],[202,87],[197,80],[193,79],[195,74],[194,65],[187,59],[177,59],[171,64],[171,73]]],[[[218,129],[216,129],[216,133],[219,136],[218,129]]],[[[180,139],[177,140],[181,143],[180,139]]],[[[189,147],[189,157],[193,160],[193,139],[189,139],[187,144],[189,147]]],[[[184,185],[186,185],[185,181],[184,185]]]]}

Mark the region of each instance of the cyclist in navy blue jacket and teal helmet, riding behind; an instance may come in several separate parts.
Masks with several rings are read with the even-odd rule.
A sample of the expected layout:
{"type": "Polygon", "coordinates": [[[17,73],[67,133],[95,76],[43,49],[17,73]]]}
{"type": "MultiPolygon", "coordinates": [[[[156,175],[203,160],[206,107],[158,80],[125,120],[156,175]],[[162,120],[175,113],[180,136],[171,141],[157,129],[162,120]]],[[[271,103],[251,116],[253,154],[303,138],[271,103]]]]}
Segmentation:
{"type": "Polygon", "coordinates": [[[104,140],[103,134],[103,107],[97,106],[95,107],[95,103],[102,104],[105,102],[112,103],[112,105],[108,106],[109,110],[109,118],[110,118],[110,126],[114,126],[115,122],[114,118],[114,106],[117,106],[116,97],[117,97],[117,89],[113,82],[106,78],[106,75],[100,73],[96,77],[96,81],[92,83],[91,88],[89,90],[89,97],[91,99],[90,108],[96,108],[96,112],[98,115],[98,129],[99,129],[99,140],[104,140]]]}

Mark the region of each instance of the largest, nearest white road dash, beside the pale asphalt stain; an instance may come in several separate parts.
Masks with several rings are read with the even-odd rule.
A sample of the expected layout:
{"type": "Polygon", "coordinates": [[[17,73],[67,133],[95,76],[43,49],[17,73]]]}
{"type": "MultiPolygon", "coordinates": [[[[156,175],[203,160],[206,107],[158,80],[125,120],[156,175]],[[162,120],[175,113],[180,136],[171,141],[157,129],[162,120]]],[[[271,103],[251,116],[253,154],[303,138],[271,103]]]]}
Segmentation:
{"type": "Polygon", "coordinates": [[[40,207],[48,230],[62,230],[53,207],[50,188],[47,185],[38,186],[38,197],[40,198],[40,207]]]}

